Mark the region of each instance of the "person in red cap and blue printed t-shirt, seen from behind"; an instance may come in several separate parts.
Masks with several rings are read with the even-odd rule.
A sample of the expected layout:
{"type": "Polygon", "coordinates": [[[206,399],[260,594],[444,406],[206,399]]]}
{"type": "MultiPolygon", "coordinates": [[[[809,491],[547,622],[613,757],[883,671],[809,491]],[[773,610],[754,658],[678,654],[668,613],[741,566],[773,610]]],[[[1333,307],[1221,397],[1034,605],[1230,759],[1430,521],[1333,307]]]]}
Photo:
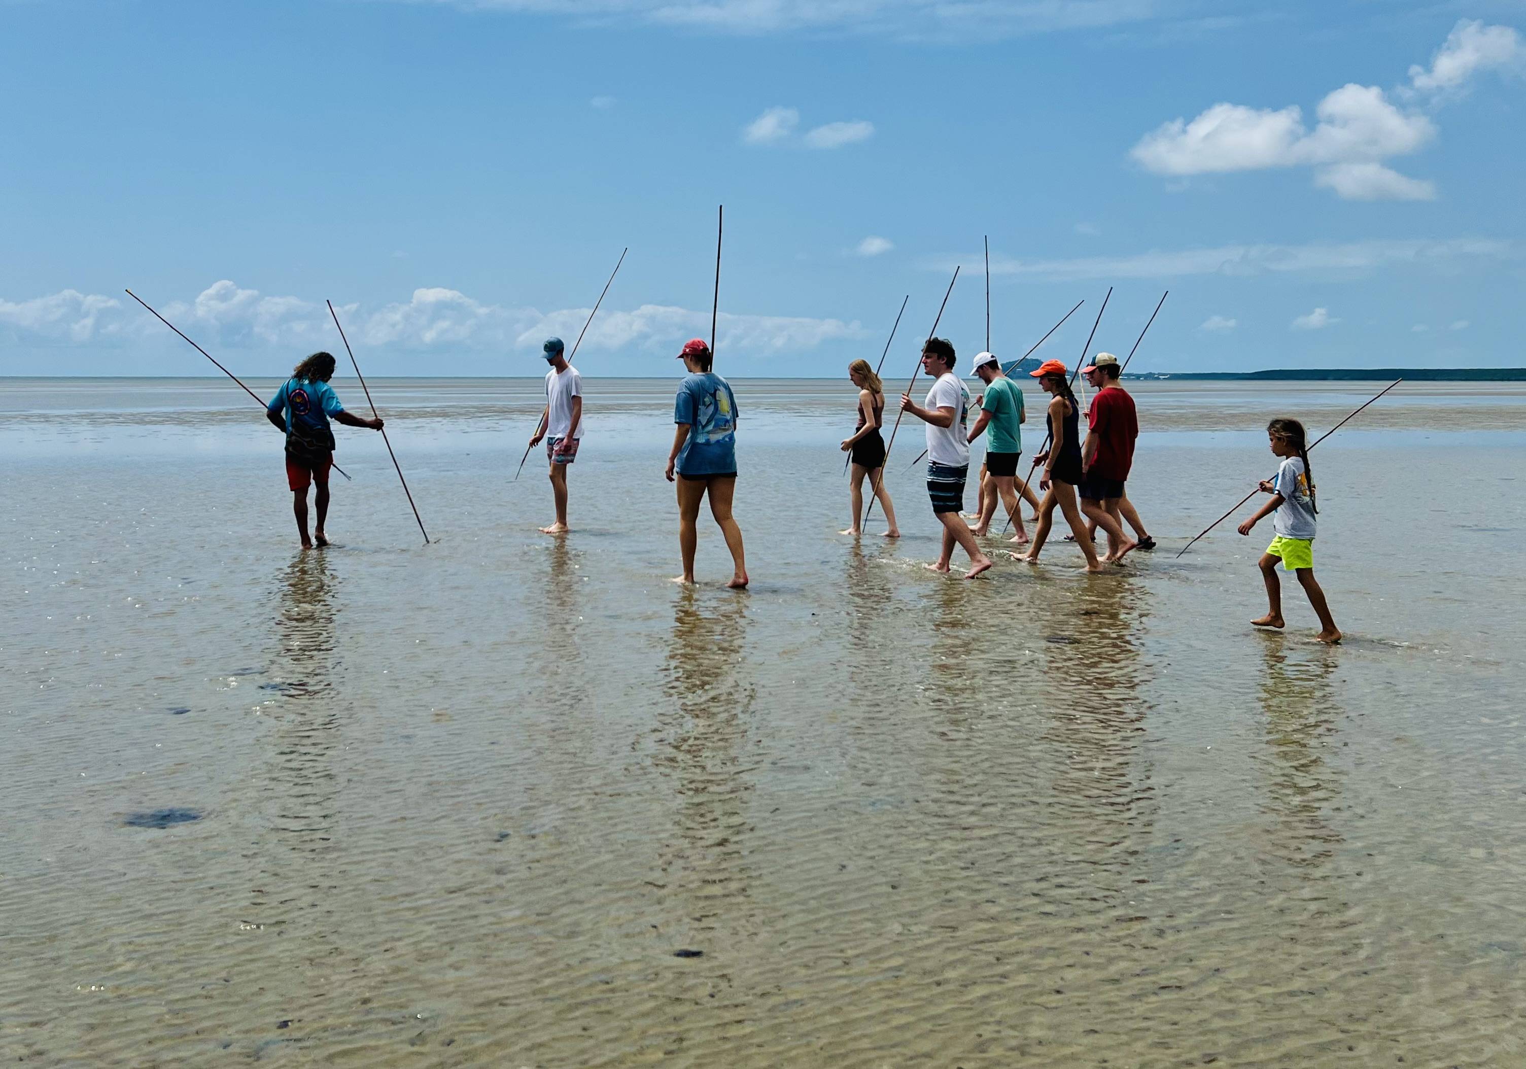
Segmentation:
{"type": "Polygon", "coordinates": [[[694,582],[694,551],[699,547],[699,505],[710,495],[710,515],[731,550],[731,582],[745,589],[748,564],[742,550],[742,528],[731,516],[737,490],[737,397],[731,383],[710,371],[713,356],[703,339],[694,337],[679,353],[688,374],[678,388],[673,406],[673,449],[665,478],[678,484],[678,545],[684,574],[676,583],[694,582]]]}

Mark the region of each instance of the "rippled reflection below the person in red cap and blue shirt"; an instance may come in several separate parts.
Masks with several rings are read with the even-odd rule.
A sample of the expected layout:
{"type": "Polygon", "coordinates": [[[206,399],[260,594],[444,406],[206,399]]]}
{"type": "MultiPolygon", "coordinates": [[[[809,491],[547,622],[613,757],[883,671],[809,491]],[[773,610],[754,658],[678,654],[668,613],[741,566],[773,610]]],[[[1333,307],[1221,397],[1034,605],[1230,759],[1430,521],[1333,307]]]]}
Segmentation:
{"type": "Polygon", "coordinates": [[[757,689],[745,681],[746,597],[714,600],[678,593],[668,644],[665,692],[673,704],[659,716],[665,753],[656,759],[676,779],[678,841],[661,848],[668,892],[688,904],[694,935],[717,927],[732,899],[748,893],[749,866],[742,838],[751,770],[743,768],[757,689]]]}

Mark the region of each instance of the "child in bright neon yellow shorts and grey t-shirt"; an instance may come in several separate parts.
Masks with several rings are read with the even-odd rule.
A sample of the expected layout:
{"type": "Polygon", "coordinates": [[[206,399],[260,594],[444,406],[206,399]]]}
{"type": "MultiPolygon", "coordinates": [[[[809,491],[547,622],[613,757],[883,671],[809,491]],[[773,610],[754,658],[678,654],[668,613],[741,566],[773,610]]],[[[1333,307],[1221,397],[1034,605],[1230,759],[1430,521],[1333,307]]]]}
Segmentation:
{"type": "Polygon", "coordinates": [[[1271,452],[1282,457],[1274,481],[1262,481],[1260,492],[1270,493],[1271,501],[1256,510],[1250,519],[1239,525],[1241,534],[1250,534],[1257,521],[1276,512],[1273,531],[1276,538],[1256,565],[1260,577],[1267,583],[1267,615],[1251,620],[1256,628],[1283,628],[1282,618],[1282,583],[1277,579],[1277,565],[1285,571],[1297,574],[1299,585],[1314,606],[1320,618],[1320,634],[1315,641],[1335,644],[1340,641],[1340,628],[1331,615],[1331,606],[1325,600],[1325,589],[1314,579],[1314,533],[1318,507],[1314,501],[1314,478],[1309,473],[1309,451],[1305,444],[1306,434],[1297,420],[1273,420],[1267,426],[1267,437],[1271,452]]]}

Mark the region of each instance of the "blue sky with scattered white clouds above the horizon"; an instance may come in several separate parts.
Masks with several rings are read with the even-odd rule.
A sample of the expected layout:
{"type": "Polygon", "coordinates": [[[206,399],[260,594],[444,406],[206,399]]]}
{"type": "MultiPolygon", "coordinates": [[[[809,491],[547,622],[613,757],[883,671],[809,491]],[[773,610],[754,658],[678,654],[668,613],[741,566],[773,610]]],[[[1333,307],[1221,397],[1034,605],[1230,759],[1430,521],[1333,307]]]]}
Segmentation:
{"type": "Polygon", "coordinates": [[[1520,367],[1526,3],[0,0],[0,374],[1520,367]],[[966,356],[967,354],[967,356],[966,356]]]}

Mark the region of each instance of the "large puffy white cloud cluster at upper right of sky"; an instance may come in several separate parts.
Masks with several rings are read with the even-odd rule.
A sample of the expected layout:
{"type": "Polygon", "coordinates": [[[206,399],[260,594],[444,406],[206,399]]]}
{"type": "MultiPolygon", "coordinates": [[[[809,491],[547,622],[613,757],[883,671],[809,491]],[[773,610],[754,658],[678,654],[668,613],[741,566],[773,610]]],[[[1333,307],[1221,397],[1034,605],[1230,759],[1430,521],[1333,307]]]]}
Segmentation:
{"type": "MultiPolygon", "coordinates": [[[[1416,89],[1457,89],[1476,72],[1520,61],[1514,29],[1459,23],[1430,70],[1412,67],[1416,89]]],[[[1308,128],[1303,110],[1254,108],[1221,102],[1192,121],[1177,118],[1144,134],[1129,156],[1154,174],[1184,177],[1270,168],[1314,168],[1315,185],[1347,200],[1430,200],[1431,182],[1410,179],[1383,160],[1408,156],[1436,137],[1436,124],[1401,108],[1376,86],[1341,86],[1315,107],[1308,128]]]]}

